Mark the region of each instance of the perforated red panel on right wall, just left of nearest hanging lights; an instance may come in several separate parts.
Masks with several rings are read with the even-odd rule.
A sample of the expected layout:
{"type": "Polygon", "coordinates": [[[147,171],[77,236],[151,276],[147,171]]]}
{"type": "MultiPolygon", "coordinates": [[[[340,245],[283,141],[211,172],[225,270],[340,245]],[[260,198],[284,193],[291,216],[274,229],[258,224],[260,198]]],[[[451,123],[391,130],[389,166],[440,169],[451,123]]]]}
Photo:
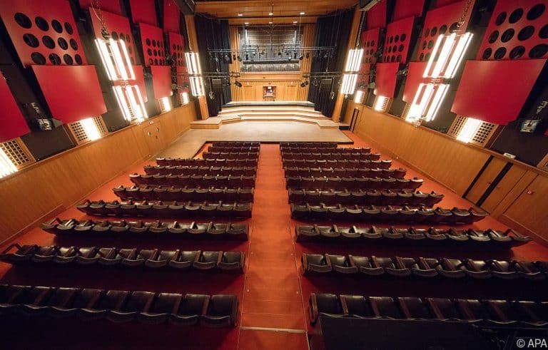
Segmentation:
{"type": "Polygon", "coordinates": [[[383,62],[407,62],[407,53],[411,40],[415,17],[392,22],[386,29],[385,46],[382,52],[383,62]]]}

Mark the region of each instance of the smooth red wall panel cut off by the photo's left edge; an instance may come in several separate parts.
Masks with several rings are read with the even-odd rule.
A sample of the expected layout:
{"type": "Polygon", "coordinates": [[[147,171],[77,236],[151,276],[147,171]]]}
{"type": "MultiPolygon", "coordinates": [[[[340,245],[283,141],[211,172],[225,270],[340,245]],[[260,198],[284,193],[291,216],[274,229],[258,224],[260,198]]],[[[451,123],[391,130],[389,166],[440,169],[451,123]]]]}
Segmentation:
{"type": "Polygon", "coordinates": [[[0,73],[0,142],[29,133],[29,125],[11,94],[6,79],[0,73]]]}

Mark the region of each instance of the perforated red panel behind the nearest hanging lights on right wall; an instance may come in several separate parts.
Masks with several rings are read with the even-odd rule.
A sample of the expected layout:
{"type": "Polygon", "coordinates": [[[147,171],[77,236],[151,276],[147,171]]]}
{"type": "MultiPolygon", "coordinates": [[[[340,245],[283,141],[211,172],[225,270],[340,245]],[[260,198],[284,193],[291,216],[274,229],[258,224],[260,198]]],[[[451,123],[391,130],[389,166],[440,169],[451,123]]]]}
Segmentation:
{"type": "MultiPolygon", "coordinates": [[[[428,61],[432,55],[432,49],[436,39],[440,34],[450,34],[457,29],[466,1],[456,2],[447,6],[428,11],[426,14],[425,25],[422,27],[422,36],[418,42],[419,50],[417,52],[417,61],[428,61]]],[[[468,11],[465,18],[464,28],[468,26],[468,20],[472,11],[468,11]]]]}

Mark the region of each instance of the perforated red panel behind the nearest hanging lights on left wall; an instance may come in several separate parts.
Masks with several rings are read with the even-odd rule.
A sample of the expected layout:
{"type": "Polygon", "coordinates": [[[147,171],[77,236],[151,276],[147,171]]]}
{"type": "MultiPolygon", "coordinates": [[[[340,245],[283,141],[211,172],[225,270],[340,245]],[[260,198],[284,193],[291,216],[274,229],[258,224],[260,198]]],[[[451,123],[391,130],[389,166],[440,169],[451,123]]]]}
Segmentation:
{"type": "MultiPolygon", "coordinates": [[[[128,55],[131,64],[137,64],[138,61],[135,40],[133,38],[133,34],[131,34],[131,27],[129,26],[129,20],[127,19],[127,17],[112,14],[111,12],[107,11],[101,12],[103,14],[103,19],[105,21],[105,26],[108,32],[113,38],[121,38],[126,43],[126,48],[128,49],[128,55]]],[[[91,14],[91,24],[93,25],[93,32],[95,33],[95,37],[103,38],[103,36],[101,35],[101,23],[99,22],[97,16],[93,16],[93,13],[91,14]]]]}

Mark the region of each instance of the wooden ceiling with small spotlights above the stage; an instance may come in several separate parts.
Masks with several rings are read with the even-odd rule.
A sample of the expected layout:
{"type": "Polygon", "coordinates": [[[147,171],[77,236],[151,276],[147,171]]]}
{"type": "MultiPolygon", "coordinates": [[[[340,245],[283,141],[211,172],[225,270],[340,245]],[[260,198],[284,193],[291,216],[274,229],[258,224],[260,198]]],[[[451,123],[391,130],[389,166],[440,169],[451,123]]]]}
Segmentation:
{"type": "Polygon", "coordinates": [[[315,23],[318,16],[340,9],[348,9],[357,4],[357,0],[225,0],[196,1],[196,12],[209,14],[219,19],[228,19],[230,24],[246,22],[253,24],[292,24],[315,23]],[[272,5],[274,4],[274,11],[272,5]],[[273,16],[269,16],[270,12],[273,16]],[[304,15],[300,15],[304,12],[304,15]],[[238,16],[242,14],[242,16],[238,16]]]}

